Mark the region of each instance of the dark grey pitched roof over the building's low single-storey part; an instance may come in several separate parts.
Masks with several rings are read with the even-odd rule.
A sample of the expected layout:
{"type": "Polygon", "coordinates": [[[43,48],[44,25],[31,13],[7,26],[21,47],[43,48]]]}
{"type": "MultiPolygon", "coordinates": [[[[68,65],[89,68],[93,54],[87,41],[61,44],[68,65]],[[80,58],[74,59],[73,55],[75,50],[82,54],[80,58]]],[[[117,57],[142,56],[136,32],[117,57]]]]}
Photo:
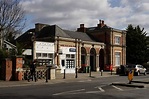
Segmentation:
{"type": "MultiPolygon", "coordinates": [[[[18,37],[16,40],[21,42],[31,41],[32,35],[29,34],[30,32],[35,33],[35,28],[28,30],[20,37],[18,37]]],[[[49,37],[53,38],[55,36],[59,36],[64,38],[81,39],[83,41],[95,42],[94,40],[91,39],[91,37],[87,33],[63,30],[57,25],[47,25],[44,28],[42,28],[38,33],[35,33],[35,36],[36,39],[43,39],[43,40],[44,38],[49,39],[49,37]]]]}

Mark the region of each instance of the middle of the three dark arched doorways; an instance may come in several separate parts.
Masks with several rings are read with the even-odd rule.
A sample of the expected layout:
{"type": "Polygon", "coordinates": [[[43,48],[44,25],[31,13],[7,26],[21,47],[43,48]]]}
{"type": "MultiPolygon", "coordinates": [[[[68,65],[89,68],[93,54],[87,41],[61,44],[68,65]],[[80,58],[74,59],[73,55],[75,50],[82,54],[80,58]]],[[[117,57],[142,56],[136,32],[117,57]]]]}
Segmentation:
{"type": "Polygon", "coordinates": [[[90,50],[90,66],[91,71],[96,71],[96,50],[94,48],[90,50]]]}

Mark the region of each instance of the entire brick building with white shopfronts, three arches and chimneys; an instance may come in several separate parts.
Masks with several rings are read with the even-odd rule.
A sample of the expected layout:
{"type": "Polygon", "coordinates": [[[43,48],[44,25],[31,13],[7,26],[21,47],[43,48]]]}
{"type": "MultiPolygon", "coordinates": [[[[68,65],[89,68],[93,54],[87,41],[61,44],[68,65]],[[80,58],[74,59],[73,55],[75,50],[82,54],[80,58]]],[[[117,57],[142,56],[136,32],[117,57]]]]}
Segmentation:
{"type": "Polygon", "coordinates": [[[125,31],[107,26],[103,20],[95,27],[80,24],[76,31],[37,23],[17,41],[27,45],[24,54],[37,59],[39,66],[55,64],[59,73],[75,73],[76,68],[82,72],[87,66],[91,71],[111,66],[115,70],[126,64],[125,31]]]}

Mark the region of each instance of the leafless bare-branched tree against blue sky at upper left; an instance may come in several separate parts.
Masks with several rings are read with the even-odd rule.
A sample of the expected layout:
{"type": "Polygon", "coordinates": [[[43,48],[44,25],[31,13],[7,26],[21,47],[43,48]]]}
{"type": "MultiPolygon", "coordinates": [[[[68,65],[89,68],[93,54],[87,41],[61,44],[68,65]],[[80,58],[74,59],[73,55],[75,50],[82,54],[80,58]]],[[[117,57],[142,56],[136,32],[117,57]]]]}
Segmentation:
{"type": "Polygon", "coordinates": [[[16,36],[25,26],[25,11],[20,0],[0,0],[0,39],[1,48],[3,40],[9,35],[16,36]]]}

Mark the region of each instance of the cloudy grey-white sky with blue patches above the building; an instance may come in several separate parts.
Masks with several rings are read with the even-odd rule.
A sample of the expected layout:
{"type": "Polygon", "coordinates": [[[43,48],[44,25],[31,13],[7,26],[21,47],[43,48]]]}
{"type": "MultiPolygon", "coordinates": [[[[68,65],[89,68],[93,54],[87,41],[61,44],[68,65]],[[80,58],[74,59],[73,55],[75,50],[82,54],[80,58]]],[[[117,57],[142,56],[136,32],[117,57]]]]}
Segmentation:
{"type": "Polygon", "coordinates": [[[36,23],[76,30],[80,24],[94,27],[99,20],[120,30],[139,25],[149,33],[149,0],[21,0],[26,28],[36,23]]]}

